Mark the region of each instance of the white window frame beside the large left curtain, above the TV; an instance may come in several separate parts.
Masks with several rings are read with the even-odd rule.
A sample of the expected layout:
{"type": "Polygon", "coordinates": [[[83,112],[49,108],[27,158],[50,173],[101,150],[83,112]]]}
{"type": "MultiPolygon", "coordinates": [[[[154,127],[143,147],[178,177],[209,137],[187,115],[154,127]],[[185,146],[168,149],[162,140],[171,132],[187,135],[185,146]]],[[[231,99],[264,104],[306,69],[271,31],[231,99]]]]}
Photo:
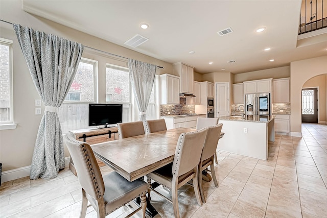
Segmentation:
{"type": "MultiPolygon", "coordinates": [[[[85,102],[85,101],[69,101],[69,100],[64,100],[62,102],[62,104],[90,104],[90,103],[97,103],[98,102],[98,67],[99,67],[99,62],[97,60],[92,60],[92,59],[88,59],[88,58],[81,58],[82,63],[87,63],[87,64],[92,64],[93,65],[93,101],[91,102],[85,102]]],[[[77,74],[77,72],[76,72],[77,74]]],[[[76,76],[76,75],[75,75],[76,76]]],[[[74,77],[75,79],[75,77],[74,77]]],[[[69,87],[70,89],[70,87],[69,87]]],[[[68,90],[69,92],[69,90],[68,90]]],[[[68,94],[67,92],[67,94],[68,94]]],[[[71,92],[75,92],[75,91],[71,91],[71,92]]]]}

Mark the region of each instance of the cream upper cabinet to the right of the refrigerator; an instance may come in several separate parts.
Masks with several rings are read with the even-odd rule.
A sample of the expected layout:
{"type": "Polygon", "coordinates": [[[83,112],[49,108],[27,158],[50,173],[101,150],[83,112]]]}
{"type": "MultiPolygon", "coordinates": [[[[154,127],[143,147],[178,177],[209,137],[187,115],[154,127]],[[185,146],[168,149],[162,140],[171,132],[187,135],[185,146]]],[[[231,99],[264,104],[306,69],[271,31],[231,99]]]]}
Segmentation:
{"type": "Polygon", "coordinates": [[[290,78],[275,79],[273,84],[273,103],[290,103],[290,78]]]}

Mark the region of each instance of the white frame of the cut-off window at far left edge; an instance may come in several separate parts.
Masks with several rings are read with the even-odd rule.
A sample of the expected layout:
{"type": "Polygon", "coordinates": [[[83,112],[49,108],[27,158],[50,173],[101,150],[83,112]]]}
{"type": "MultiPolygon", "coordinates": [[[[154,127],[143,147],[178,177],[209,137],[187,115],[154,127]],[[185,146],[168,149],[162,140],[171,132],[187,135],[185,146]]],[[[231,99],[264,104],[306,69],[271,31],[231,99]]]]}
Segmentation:
{"type": "Polygon", "coordinates": [[[7,122],[0,122],[0,130],[15,129],[14,124],[14,88],[13,88],[13,41],[10,39],[0,38],[0,44],[9,46],[9,105],[10,119],[7,122]]]}

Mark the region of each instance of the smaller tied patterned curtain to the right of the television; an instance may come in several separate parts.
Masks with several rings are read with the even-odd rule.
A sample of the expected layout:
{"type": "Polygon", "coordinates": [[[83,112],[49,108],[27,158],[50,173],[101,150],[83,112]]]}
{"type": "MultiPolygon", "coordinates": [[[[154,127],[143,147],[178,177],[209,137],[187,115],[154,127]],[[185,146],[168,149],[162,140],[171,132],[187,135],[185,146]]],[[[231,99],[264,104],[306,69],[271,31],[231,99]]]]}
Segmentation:
{"type": "Polygon", "coordinates": [[[156,65],[128,59],[129,77],[139,110],[139,120],[145,122],[153,87],[156,65]]]}

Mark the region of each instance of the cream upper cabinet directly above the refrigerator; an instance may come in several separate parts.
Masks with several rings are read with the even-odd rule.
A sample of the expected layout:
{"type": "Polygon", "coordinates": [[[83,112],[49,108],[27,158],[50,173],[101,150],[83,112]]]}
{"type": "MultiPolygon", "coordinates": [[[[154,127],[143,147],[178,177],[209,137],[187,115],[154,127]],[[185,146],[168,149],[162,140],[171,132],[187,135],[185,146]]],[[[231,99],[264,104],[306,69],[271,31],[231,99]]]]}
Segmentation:
{"type": "Polygon", "coordinates": [[[244,94],[271,92],[272,79],[243,82],[244,94]]]}

